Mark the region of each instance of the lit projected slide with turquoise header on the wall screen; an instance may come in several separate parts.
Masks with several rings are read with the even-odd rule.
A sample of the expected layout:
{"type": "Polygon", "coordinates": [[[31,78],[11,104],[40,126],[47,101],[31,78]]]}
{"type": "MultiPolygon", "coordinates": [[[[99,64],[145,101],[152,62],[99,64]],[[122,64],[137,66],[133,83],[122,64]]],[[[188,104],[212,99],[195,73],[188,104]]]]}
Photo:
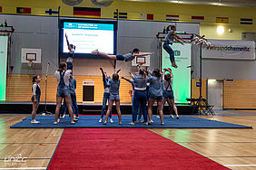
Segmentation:
{"type": "Polygon", "coordinates": [[[64,22],[62,52],[68,52],[65,33],[69,42],[75,45],[75,53],[91,53],[98,49],[113,54],[114,24],[64,22]]]}

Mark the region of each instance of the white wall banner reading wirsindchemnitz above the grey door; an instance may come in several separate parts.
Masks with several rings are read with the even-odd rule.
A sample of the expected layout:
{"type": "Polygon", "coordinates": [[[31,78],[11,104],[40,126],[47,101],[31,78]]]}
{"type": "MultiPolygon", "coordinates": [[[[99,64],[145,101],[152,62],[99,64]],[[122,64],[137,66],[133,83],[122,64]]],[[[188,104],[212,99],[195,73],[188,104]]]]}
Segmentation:
{"type": "Polygon", "coordinates": [[[235,40],[208,40],[209,47],[202,49],[202,58],[255,60],[255,42],[235,40]]]}

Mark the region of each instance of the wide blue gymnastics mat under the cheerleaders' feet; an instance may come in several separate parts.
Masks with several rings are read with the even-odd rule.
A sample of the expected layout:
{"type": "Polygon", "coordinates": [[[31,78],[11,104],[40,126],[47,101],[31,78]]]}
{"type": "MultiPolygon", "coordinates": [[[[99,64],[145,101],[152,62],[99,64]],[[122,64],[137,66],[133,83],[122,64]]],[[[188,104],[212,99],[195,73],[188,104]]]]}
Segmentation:
{"type": "MultiPolygon", "coordinates": [[[[118,124],[118,117],[113,116],[113,123],[108,122],[107,125],[99,123],[100,116],[80,116],[79,121],[75,125],[70,123],[69,117],[62,118],[60,123],[53,125],[54,116],[36,116],[36,120],[40,121],[40,124],[30,123],[31,117],[25,118],[22,121],[11,126],[11,128],[81,128],[81,127],[114,127],[114,128],[252,128],[248,126],[242,126],[237,124],[226,123],[216,120],[208,120],[204,118],[196,117],[180,117],[180,119],[170,118],[164,116],[164,125],[160,125],[160,118],[153,117],[152,125],[143,125],[143,123],[135,123],[134,126],[129,125],[132,116],[122,116],[123,125],[118,124]]],[[[105,118],[105,117],[104,117],[105,118]]],[[[103,119],[104,119],[103,118],[103,119]]]]}

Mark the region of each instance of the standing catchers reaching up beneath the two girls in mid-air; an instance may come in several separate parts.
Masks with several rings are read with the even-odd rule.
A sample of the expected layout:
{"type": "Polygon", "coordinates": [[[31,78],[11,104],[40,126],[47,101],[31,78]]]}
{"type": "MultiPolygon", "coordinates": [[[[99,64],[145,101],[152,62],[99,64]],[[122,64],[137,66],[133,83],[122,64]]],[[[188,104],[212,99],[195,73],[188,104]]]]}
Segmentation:
{"type": "MultiPolygon", "coordinates": [[[[113,102],[116,105],[116,111],[118,113],[119,124],[122,125],[122,117],[120,110],[120,98],[119,98],[119,87],[120,80],[118,73],[113,73],[113,77],[107,77],[106,72],[103,71],[102,68],[100,70],[103,73],[103,85],[104,85],[104,94],[103,94],[103,109],[101,118],[99,120],[100,123],[103,122],[103,125],[107,124],[108,118],[110,117],[110,122],[113,123],[111,110],[113,106],[113,102]],[[104,110],[106,109],[106,102],[108,100],[108,109],[106,112],[106,117],[103,121],[104,110]]],[[[131,73],[132,74],[132,73],[131,73]]],[[[144,70],[140,68],[138,72],[134,75],[132,74],[132,79],[126,79],[122,77],[123,80],[129,81],[133,86],[133,94],[132,94],[132,103],[133,103],[133,118],[130,125],[134,125],[137,121],[150,125],[153,123],[153,104],[157,102],[157,110],[160,115],[161,125],[163,123],[163,106],[166,101],[169,104],[170,111],[174,110],[176,114],[176,118],[179,119],[179,115],[177,112],[177,108],[174,104],[174,96],[172,91],[172,81],[173,74],[172,70],[163,69],[163,72],[160,72],[158,69],[154,69],[153,71],[144,70]],[[168,72],[167,74],[165,74],[168,72]],[[147,108],[148,105],[148,109],[147,108]],[[138,115],[139,110],[139,115],[138,115]],[[142,120],[143,115],[143,120],[142,120]]],[[[172,114],[170,115],[172,118],[172,114]]]]}

